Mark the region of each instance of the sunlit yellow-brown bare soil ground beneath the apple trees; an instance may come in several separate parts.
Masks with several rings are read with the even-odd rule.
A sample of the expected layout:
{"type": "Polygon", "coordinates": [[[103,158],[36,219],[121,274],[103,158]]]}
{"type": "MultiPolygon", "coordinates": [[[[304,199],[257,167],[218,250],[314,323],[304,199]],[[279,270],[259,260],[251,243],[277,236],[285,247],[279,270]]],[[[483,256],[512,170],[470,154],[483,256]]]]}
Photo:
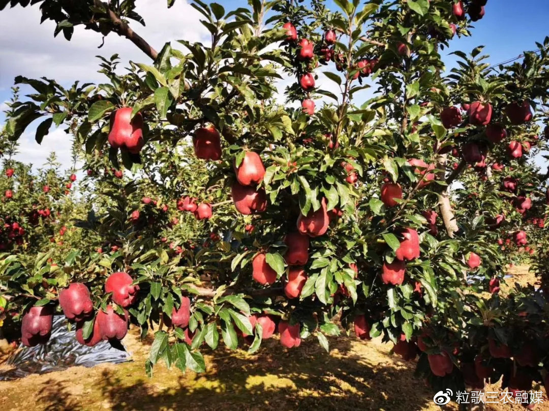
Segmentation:
{"type": "MultiPolygon", "coordinates": [[[[535,281],[528,270],[509,282],[535,281]]],[[[124,339],[132,362],[72,367],[0,382],[2,411],[76,410],[457,410],[433,403],[433,392],[413,376],[415,364],[391,355],[391,344],[363,342],[354,336],[330,340],[326,353],[316,339],[288,350],[278,339],[266,340],[260,352],[204,350],[206,372],[182,373],[155,367],[144,372],[152,335],[139,341],[136,329],[124,339]]],[[[5,356],[4,356],[5,358],[5,356]]],[[[2,358],[0,358],[1,360],[2,358]]],[[[498,385],[486,391],[500,391],[498,385]]],[[[537,410],[549,410],[549,400],[537,410]]],[[[524,410],[496,404],[491,411],[524,410]]]]}

